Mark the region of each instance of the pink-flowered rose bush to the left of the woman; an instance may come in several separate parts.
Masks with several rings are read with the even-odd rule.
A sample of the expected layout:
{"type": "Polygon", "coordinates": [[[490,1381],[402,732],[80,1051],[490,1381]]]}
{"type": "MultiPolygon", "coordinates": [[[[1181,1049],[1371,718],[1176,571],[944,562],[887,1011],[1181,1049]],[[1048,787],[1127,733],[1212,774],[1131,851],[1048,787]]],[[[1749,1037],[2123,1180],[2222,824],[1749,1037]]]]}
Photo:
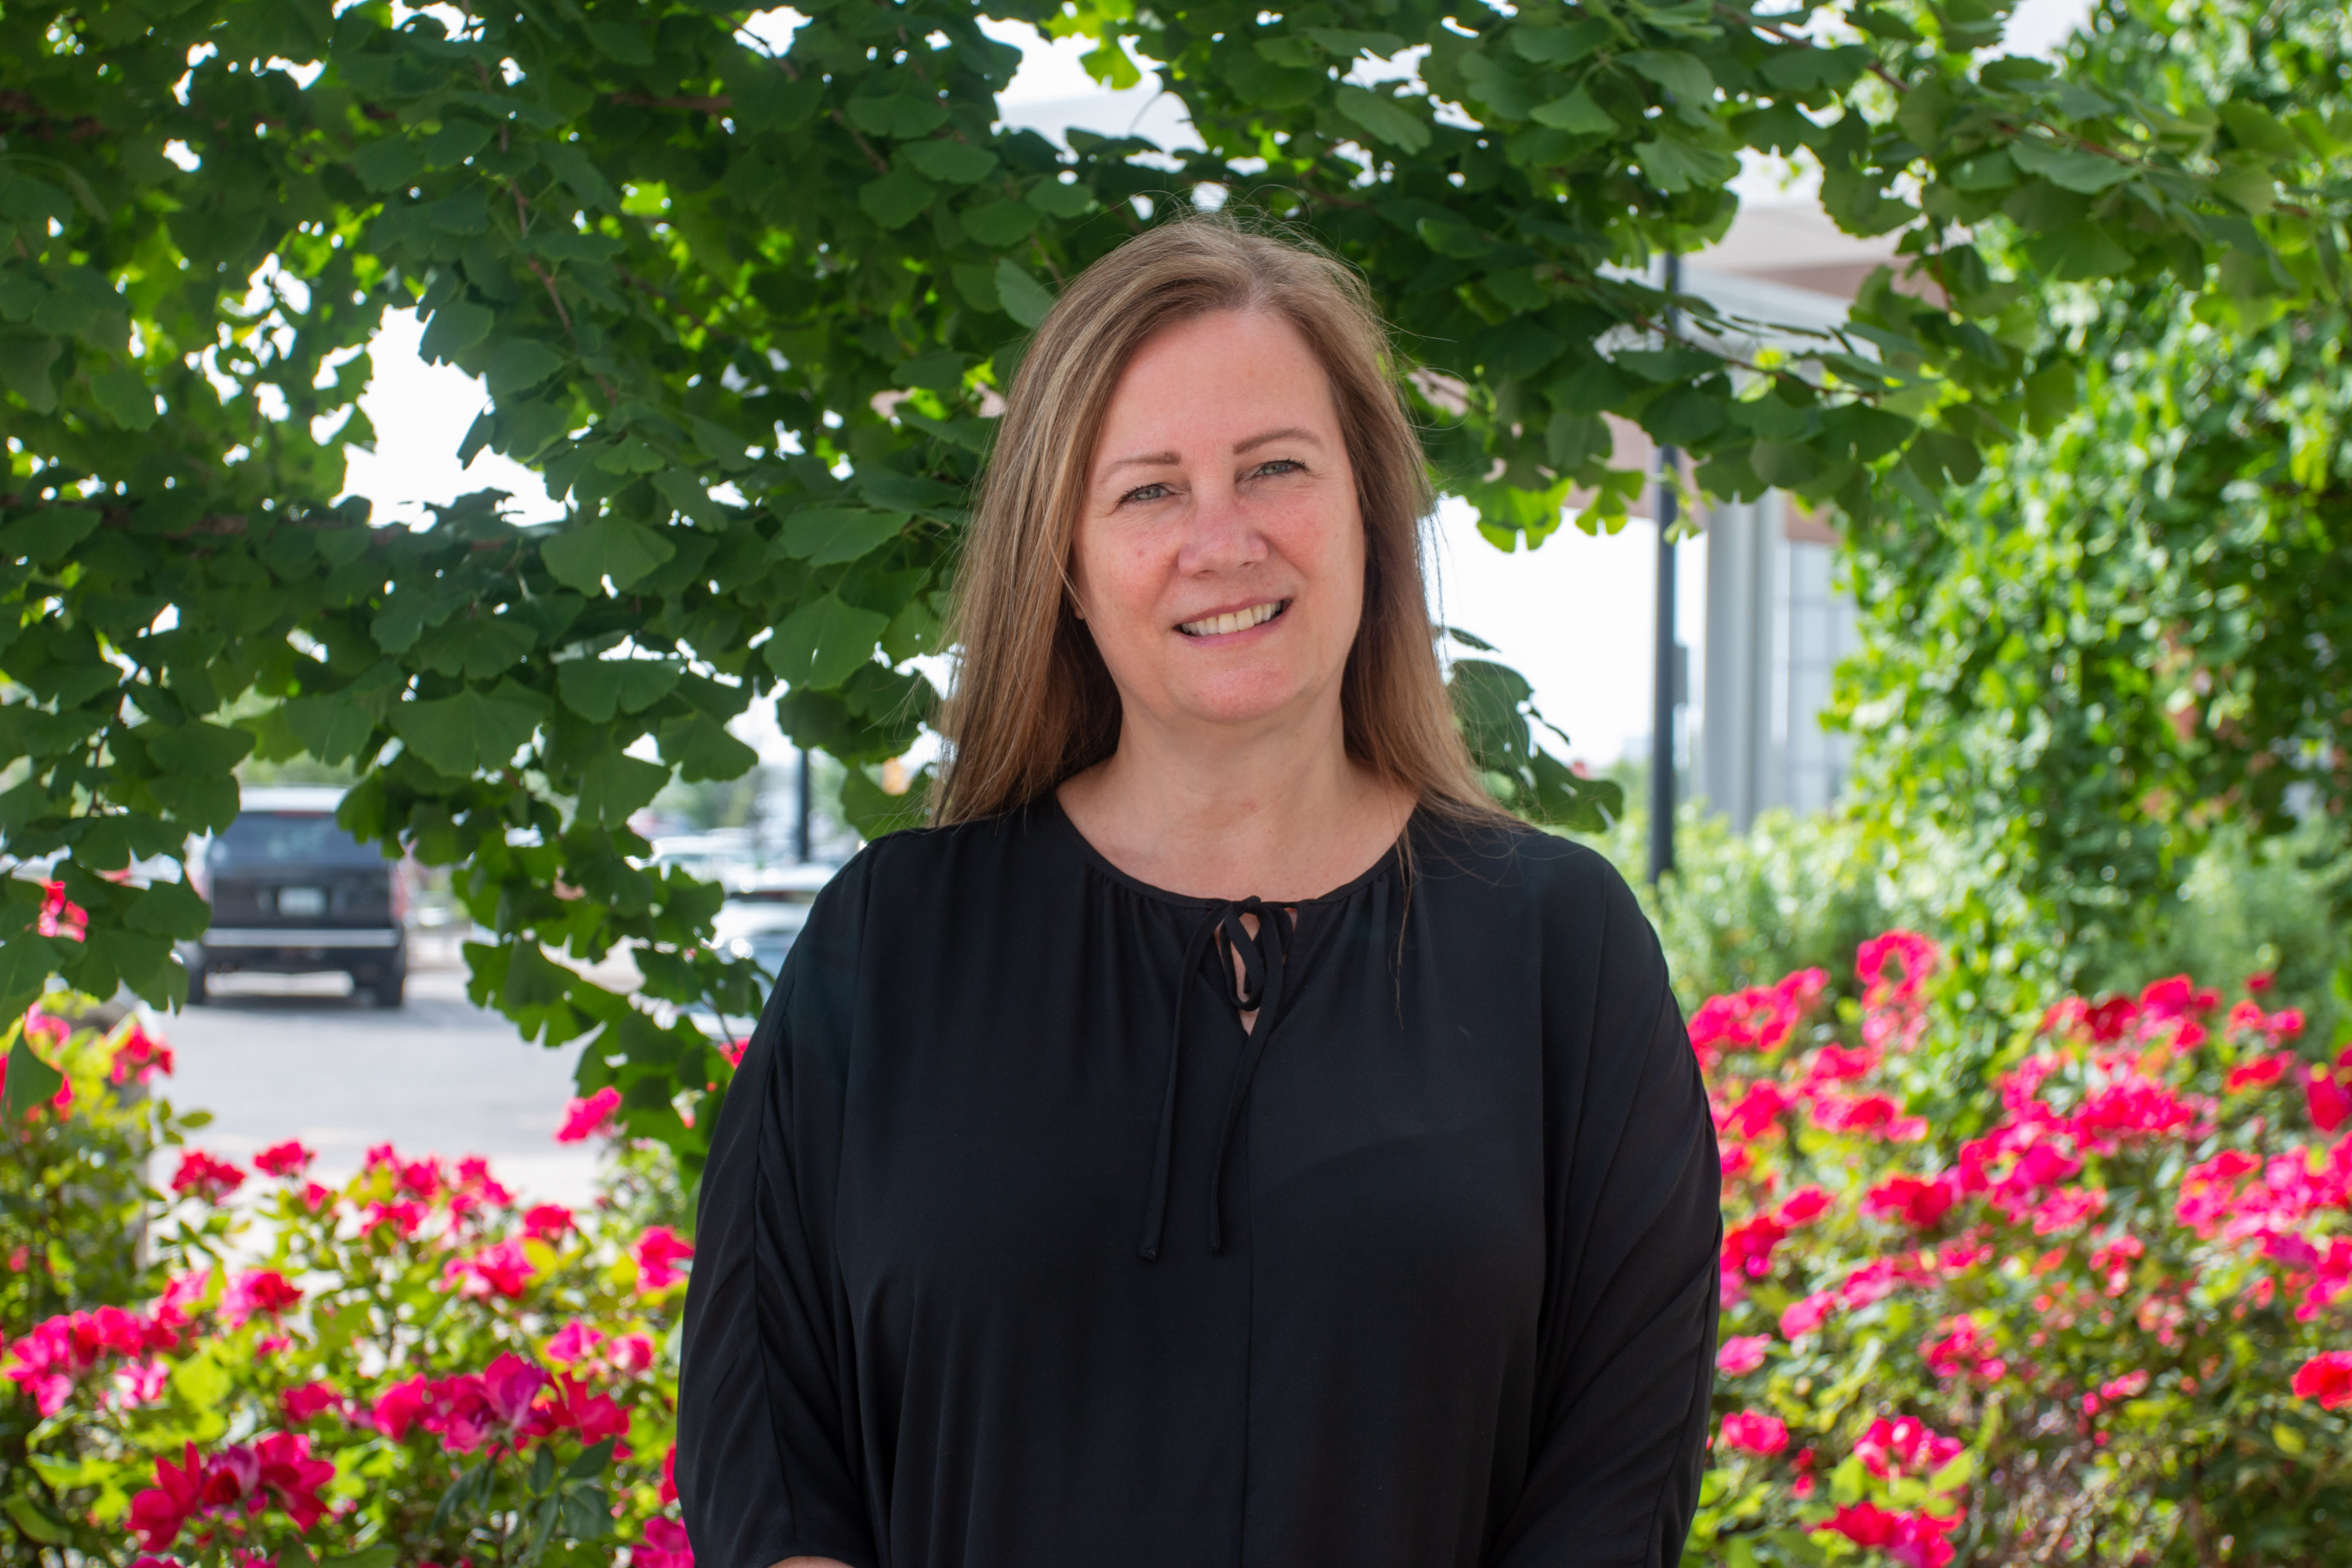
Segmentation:
{"type": "MultiPolygon", "coordinates": [[[[54,1140],[89,1107],[113,1164],[179,1143],[193,1119],[167,1107],[103,1119],[108,1060],[167,1067],[143,1039],[64,1032],[71,1103],[7,1135],[54,1140]]],[[[299,1143],[158,1166],[146,1267],[5,1324],[26,1427],[9,1561],[691,1563],[668,1458],[694,1248],[670,1227],[527,1206],[480,1159],[393,1147],[339,1187],[299,1143]]],[[[122,1251],[113,1215],[82,1218],[85,1246],[122,1251]]]]}

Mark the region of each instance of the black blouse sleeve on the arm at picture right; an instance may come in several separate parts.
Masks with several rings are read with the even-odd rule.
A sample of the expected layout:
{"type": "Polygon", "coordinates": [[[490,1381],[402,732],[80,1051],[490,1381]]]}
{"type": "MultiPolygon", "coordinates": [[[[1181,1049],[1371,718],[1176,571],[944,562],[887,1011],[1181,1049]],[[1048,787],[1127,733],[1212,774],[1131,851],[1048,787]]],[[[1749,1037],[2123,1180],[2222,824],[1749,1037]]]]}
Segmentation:
{"type": "Polygon", "coordinates": [[[1498,1568],[1672,1568],[1715,1387],[1722,1166],[1665,957],[1604,863],[1545,959],[1550,1272],[1498,1568]],[[1597,929],[1597,938],[1592,933],[1597,929]]]}

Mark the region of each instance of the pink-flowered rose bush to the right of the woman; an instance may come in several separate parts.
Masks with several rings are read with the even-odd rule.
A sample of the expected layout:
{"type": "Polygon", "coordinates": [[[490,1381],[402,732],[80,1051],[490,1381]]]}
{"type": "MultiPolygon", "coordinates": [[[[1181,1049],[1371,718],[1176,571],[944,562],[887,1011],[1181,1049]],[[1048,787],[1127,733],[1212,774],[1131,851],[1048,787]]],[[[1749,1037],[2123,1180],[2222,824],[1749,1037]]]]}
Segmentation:
{"type": "MultiPolygon", "coordinates": [[[[2067,997],[1959,1117],[1938,952],[1691,1018],[1724,1159],[1722,1563],[2324,1563],[2352,1540],[2352,1051],[2265,978],[2067,997]]],[[[1957,990],[1957,987],[1955,987],[1957,990]]]]}

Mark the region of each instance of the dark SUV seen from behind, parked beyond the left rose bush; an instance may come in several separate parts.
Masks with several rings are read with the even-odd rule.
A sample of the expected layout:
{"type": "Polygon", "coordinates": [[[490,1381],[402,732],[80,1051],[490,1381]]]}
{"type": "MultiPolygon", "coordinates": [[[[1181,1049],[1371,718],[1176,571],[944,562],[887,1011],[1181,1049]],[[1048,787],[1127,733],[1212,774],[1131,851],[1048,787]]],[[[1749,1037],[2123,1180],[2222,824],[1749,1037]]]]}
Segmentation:
{"type": "Polygon", "coordinates": [[[360,999],[400,1006],[407,877],[336,825],[341,799],[322,788],[245,790],[238,820],[198,860],[212,929],[183,950],[188,1001],[233,971],[343,971],[360,999]]]}

